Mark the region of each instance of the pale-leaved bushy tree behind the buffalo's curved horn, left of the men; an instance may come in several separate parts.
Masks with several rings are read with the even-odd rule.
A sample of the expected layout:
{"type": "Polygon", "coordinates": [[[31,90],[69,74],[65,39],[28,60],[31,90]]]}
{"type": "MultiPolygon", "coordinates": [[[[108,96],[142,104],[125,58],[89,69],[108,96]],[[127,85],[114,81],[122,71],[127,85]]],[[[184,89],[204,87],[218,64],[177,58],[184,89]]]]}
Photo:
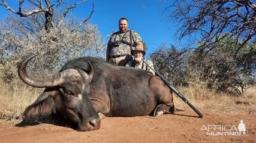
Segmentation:
{"type": "MultiPolygon", "coordinates": [[[[5,1],[2,2],[7,5],[5,1]]],[[[60,4],[68,5],[64,1],[58,2],[57,7],[60,4]]],[[[22,58],[35,53],[39,55],[31,61],[29,68],[37,69],[41,75],[58,71],[72,58],[86,55],[104,57],[106,42],[101,39],[97,26],[86,23],[92,13],[82,22],[75,16],[66,17],[67,11],[77,4],[68,6],[64,13],[61,8],[55,10],[48,28],[44,12],[26,17],[19,17],[19,13],[10,14],[0,21],[0,77],[11,82],[17,77],[17,65],[22,58]]],[[[26,11],[34,10],[33,7],[26,7],[26,11]]]]}

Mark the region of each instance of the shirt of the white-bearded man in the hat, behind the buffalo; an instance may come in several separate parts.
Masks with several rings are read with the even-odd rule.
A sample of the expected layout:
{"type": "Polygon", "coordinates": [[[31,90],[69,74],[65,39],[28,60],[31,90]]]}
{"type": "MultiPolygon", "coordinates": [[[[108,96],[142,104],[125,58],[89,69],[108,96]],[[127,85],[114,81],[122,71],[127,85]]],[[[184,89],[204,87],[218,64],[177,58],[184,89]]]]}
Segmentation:
{"type": "MultiPolygon", "coordinates": [[[[150,67],[152,67],[153,69],[153,63],[152,61],[149,61],[149,60],[145,60],[147,64],[149,64],[150,67]]],[[[126,66],[127,67],[135,67],[137,69],[143,69],[143,70],[147,70],[147,71],[150,71],[152,72],[153,74],[155,74],[155,72],[149,67],[147,66],[147,64],[144,63],[144,61],[141,61],[140,64],[135,64],[135,61],[129,61],[126,66]]]]}

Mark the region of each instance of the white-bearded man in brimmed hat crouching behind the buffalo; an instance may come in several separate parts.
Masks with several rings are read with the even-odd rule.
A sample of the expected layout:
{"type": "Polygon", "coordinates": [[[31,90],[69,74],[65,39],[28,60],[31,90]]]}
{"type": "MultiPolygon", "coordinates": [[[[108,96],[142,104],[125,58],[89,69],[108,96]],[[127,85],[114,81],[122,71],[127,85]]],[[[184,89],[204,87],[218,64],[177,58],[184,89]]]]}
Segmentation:
{"type": "Polygon", "coordinates": [[[135,49],[132,49],[131,51],[132,55],[134,56],[134,60],[133,61],[129,61],[126,66],[127,67],[135,67],[137,69],[142,69],[142,70],[147,70],[150,71],[151,73],[155,74],[155,72],[152,70],[153,69],[153,63],[152,61],[149,60],[145,60],[145,62],[147,64],[149,64],[150,67],[152,67],[152,69],[147,66],[146,63],[144,63],[144,61],[142,60],[144,55],[146,54],[146,52],[144,51],[143,48],[141,48],[140,46],[136,46],[135,49]]]}

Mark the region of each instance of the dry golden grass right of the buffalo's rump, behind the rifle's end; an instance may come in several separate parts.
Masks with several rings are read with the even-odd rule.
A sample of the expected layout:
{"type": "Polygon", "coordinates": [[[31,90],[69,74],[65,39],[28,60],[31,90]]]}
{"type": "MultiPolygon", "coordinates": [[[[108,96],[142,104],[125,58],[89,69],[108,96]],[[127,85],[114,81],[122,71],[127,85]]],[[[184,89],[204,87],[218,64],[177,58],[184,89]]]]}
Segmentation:
{"type": "MultiPolygon", "coordinates": [[[[249,88],[245,94],[235,97],[228,94],[217,94],[200,86],[179,88],[180,93],[199,111],[210,114],[254,114],[256,109],[256,86],[249,88]]],[[[175,94],[174,94],[175,96],[175,94]]],[[[177,108],[192,110],[179,97],[174,97],[177,108]]]]}

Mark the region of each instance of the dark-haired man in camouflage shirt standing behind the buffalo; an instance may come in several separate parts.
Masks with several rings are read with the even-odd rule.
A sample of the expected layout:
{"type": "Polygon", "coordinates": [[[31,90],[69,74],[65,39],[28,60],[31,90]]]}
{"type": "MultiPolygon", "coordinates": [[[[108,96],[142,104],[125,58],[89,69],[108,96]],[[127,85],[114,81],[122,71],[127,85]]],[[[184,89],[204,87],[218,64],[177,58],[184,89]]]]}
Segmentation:
{"type": "Polygon", "coordinates": [[[137,45],[143,48],[140,35],[128,29],[127,18],[120,18],[119,31],[113,33],[107,43],[106,61],[114,65],[125,66],[128,61],[132,60],[129,54],[137,45]]]}

